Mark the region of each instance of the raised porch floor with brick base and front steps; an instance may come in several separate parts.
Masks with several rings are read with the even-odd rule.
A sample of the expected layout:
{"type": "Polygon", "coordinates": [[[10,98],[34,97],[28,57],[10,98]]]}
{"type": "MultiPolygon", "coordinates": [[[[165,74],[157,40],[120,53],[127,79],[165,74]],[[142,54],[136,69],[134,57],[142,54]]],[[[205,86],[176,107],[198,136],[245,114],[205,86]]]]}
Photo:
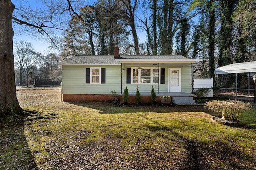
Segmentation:
{"type": "MultiPolygon", "coordinates": [[[[170,96],[174,104],[194,104],[194,94],[184,92],[159,92],[156,93],[156,102],[160,103],[160,96],[170,96]]],[[[141,103],[152,103],[150,92],[140,92],[141,103]]],[[[123,94],[120,94],[120,102],[124,102],[123,94]]],[[[136,92],[129,92],[128,103],[136,103],[136,92]]]]}

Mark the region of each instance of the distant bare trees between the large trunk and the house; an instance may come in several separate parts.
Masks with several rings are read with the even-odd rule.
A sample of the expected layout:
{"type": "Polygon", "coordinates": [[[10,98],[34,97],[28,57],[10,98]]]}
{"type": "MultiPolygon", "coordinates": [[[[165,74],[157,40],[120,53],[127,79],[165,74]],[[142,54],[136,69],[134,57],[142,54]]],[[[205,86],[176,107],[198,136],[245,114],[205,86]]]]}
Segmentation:
{"type": "Polygon", "coordinates": [[[14,42],[14,65],[16,85],[60,85],[59,56],[36,53],[27,41],[14,42]]]}

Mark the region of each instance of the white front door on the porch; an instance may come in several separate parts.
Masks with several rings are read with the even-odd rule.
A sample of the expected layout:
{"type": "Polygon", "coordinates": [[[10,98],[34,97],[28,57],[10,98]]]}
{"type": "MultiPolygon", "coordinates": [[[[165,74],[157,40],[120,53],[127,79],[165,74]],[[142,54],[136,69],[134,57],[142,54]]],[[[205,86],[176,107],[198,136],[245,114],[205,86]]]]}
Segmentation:
{"type": "Polygon", "coordinates": [[[169,68],[169,92],[181,92],[181,68],[169,68]]]}

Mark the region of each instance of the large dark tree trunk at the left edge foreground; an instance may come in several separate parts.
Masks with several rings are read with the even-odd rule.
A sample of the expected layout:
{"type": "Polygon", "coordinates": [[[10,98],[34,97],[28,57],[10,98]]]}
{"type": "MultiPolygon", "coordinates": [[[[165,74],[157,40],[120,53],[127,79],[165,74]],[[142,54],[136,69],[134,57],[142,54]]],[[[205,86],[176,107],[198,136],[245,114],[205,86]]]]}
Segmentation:
{"type": "Polygon", "coordinates": [[[14,4],[11,1],[0,0],[0,114],[1,121],[8,115],[21,114],[22,109],[16,97],[14,78],[14,57],[12,37],[12,12],[14,4]]]}

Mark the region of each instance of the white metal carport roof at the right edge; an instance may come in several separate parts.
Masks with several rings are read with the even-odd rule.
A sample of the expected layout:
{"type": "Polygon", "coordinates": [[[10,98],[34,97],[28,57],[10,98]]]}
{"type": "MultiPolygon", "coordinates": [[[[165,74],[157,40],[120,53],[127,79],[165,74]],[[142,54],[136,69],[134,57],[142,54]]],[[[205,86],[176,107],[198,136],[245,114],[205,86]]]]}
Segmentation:
{"type": "Polygon", "coordinates": [[[234,63],[215,69],[214,74],[232,74],[243,72],[256,72],[256,61],[234,63]]]}

